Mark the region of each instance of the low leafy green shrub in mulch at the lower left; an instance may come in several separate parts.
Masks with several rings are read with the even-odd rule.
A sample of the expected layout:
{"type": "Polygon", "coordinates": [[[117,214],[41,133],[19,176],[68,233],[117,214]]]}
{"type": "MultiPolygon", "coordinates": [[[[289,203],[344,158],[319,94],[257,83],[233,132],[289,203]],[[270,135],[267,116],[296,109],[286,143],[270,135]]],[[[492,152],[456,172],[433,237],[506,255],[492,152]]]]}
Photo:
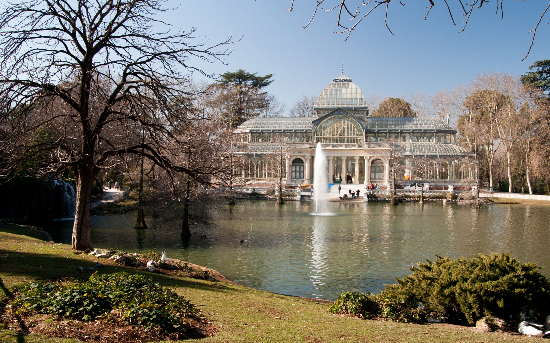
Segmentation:
{"type": "Polygon", "coordinates": [[[19,290],[12,307],[89,321],[104,318],[146,330],[174,330],[198,313],[183,296],[141,274],[92,274],[86,282],[74,278],[31,283],[19,290]],[[112,311],[115,310],[115,311],[112,311]]]}

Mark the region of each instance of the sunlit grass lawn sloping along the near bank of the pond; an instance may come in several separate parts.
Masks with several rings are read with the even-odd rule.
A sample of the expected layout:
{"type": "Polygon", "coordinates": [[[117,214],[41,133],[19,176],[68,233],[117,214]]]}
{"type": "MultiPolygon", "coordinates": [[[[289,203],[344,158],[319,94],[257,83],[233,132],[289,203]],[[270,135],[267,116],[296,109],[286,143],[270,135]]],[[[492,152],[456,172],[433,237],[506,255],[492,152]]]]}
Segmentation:
{"type": "MultiPolygon", "coordinates": [[[[473,328],[449,324],[406,324],[334,316],[327,312],[326,305],[296,297],[223,282],[207,283],[199,279],[169,277],[100,260],[106,267],[99,273],[127,271],[151,275],[159,284],[175,288],[191,300],[218,328],[216,336],[201,339],[205,342],[488,343],[543,340],[519,334],[476,333],[473,328]]],[[[78,273],[75,268],[92,266],[95,266],[93,256],[75,255],[69,245],[43,241],[39,233],[30,229],[0,226],[2,303],[9,299],[10,290],[16,285],[70,276],[87,279],[89,272],[78,273]]],[[[4,342],[76,341],[38,334],[18,335],[0,327],[0,343],[4,342]]]]}

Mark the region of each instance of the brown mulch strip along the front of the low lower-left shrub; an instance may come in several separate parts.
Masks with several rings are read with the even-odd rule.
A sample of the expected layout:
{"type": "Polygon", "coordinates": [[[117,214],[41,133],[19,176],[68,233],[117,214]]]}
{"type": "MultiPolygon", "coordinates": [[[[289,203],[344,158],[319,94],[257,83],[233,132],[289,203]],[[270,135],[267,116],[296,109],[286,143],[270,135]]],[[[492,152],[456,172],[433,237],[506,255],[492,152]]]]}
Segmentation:
{"type": "MultiPolygon", "coordinates": [[[[64,319],[52,314],[29,314],[20,317],[5,312],[2,317],[4,325],[12,331],[21,333],[38,333],[52,338],[73,338],[85,342],[101,343],[142,343],[161,340],[200,339],[212,337],[217,328],[202,320],[188,319],[185,329],[168,332],[162,329],[145,331],[136,325],[109,323],[105,320],[83,322],[64,319]]],[[[182,326],[182,328],[184,327],[182,326]]]]}

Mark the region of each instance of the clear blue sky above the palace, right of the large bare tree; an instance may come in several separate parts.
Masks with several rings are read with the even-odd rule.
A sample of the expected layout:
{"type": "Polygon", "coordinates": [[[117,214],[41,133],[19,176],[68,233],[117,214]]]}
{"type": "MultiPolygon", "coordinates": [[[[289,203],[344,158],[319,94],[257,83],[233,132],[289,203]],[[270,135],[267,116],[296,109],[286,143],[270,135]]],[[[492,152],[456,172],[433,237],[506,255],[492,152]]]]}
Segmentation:
{"type": "MultiPolygon", "coordinates": [[[[436,1],[425,21],[427,0],[409,0],[403,7],[396,0],[390,4],[388,15],[395,36],[383,27],[383,10],[379,8],[351,33],[348,41],[344,41],[344,35],[332,33],[337,30],[333,13],[320,11],[307,29],[301,27],[309,21],[314,4],[313,0],[296,0],[294,11],[287,12],[290,0],[182,1],[163,19],[182,29],[197,27],[197,32],[210,42],[223,40],[231,33],[243,36],[230,47],[234,52],[227,66],[197,65],[216,74],[237,69],[274,74],[276,81],[267,90],[288,105],[302,95],[318,95],[340,75],[342,58],[344,74],[365,96],[378,93],[393,97],[417,92],[431,95],[489,71],[521,75],[534,61],[550,59],[547,13],[531,54],[521,61],[531,42],[528,31],[535,26],[547,1],[504,2],[504,19],[500,20],[493,0],[481,10],[476,8],[466,30],[458,33],[464,17],[456,4],[453,15],[457,25],[453,26],[443,1],[436,1]]],[[[360,10],[365,12],[365,7],[360,10]]],[[[196,76],[197,80],[203,78],[196,76]]]]}

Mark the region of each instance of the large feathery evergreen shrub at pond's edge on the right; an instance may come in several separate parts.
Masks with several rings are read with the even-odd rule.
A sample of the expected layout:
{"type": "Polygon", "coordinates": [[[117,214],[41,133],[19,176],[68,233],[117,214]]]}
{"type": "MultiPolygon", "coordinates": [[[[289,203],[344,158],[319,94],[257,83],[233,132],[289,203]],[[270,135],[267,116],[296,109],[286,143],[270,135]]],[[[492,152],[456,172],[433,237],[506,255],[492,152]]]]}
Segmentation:
{"type": "Polygon", "coordinates": [[[437,256],[387,285],[382,296],[404,301],[395,312],[414,311],[420,302],[426,316],[449,322],[474,324],[483,316],[502,318],[512,326],[520,320],[544,322],[550,314],[550,281],[540,268],[509,254],[454,260],[437,256]]]}

